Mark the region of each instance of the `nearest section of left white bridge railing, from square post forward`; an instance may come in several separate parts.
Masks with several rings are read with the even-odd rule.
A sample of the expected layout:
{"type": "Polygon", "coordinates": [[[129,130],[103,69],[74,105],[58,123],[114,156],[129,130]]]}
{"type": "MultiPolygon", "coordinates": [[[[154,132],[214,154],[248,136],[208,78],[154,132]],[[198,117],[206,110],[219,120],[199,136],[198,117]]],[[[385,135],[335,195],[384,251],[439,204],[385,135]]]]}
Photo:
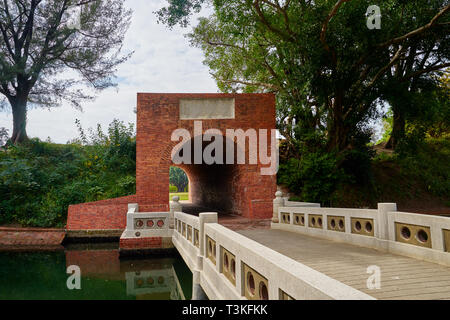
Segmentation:
{"type": "Polygon", "coordinates": [[[204,229],[201,284],[211,298],[373,299],[217,223],[204,229]]]}

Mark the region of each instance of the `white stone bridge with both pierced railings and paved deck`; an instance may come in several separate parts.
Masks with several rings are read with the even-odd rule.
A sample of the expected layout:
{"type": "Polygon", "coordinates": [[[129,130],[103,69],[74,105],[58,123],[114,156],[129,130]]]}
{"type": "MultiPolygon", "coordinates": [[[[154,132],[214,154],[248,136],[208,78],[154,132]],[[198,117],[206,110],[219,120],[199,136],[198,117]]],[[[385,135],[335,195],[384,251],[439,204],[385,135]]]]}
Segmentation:
{"type": "Polygon", "coordinates": [[[194,299],[450,299],[450,218],[276,196],[270,229],[238,232],[217,213],[183,213],[177,199],[166,213],[130,205],[121,241],[171,242],[193,273],[194,299]]]}

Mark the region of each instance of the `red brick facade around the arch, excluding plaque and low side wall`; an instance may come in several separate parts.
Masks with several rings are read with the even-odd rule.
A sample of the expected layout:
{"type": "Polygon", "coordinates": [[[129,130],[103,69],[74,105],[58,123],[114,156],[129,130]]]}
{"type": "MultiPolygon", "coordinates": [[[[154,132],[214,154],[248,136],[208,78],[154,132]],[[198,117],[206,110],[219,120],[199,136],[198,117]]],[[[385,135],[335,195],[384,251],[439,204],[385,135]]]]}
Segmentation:
{"type": "MultiPolygon", "coordinates": [[[[138,94],[136,191],[138,203],[168,205],[169,168],[171,151],[178,142],[171,142],[172,132],[187,129],[193,136],[194,120],[179,119],[179,100],[182,98],[234,98],[235,118],[202,120],[203,132],[219,129],[275,129],[275,96],[272,94],[138,94]]],[[[268,140],[270,143],[270,140],[268,140]]],[[[248,150],[247,150],[248,151],[248,150]]],[[[191,194],[209,188],[199,182],[198,170],[193,165],[181,165],[191,182],[191,194]]],[[[276,192],[276,177],[262,176],[260,165],[236,165],[227,181],[234,213],[245,217],[269,218],[272,209],[259,206],[254,212],[254,199],[272,201],[276,192]]]]}

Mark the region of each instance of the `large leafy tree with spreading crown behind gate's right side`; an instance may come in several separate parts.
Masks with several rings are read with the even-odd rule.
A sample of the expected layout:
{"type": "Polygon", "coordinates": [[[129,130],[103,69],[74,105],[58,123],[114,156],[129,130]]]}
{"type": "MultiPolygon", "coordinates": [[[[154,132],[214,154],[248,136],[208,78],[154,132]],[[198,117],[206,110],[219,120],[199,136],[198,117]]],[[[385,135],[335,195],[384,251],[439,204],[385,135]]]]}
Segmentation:
{"type": "Polygon", "coordinates": [[[373,30],[366,27],[373,1],[352,0],[177,0],[159,11],[160,20],[183,25],[186,8],[202,2],[214,13],[189,37],[219,88],[276,92],[278,127],[294,149],[322,141],[328,151],[354,148],[370,134],[367,123],[378,116],[399,61],[416,59],[404,81],[449,65],[445,0],[379,2],[382,27],[373,30]],[[427,39],[439,45],[420,60],[427,39]]]}

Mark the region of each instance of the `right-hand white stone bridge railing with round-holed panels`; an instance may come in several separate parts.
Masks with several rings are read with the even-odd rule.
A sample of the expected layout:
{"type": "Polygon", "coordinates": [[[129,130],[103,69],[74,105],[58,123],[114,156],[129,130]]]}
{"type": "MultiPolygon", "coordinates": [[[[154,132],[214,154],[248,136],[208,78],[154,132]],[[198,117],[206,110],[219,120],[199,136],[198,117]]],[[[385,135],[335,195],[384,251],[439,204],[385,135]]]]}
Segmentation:
{"type": "Polygon", "coordinates": [[[450,218],[378,209],[292,207],[274,200],[273,229],[381,249],[450,265],[450,218]],[[278,222],[276,222],[278,220],[278,222]]]}

